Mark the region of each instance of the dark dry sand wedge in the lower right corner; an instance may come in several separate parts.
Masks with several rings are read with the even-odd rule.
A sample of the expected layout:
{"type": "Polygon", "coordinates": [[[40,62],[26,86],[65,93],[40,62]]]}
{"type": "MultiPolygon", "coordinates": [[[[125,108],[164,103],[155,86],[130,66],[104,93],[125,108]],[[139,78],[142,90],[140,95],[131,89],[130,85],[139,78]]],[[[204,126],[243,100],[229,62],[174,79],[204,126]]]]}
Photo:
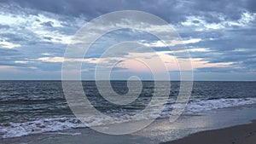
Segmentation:
{"type": "Polygon", "coordinates": [[[256,119],[249,124],[235,125],[218,130],[200,131],[174,141],[160,144],[253,144],[256,141],[256,119]]]}

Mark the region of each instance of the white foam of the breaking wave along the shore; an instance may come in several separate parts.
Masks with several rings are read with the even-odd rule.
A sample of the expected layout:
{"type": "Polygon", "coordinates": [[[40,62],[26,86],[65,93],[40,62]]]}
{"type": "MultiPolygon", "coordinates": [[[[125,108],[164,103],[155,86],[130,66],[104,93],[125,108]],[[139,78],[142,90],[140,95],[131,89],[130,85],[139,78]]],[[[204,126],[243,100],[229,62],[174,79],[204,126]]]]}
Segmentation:
{"type": "MultiPolygon", "coordinates": [[[[224,107],[236,107],[254,103],[256,103],[256,98],[232,98],[190,101],[185,109],[185,113],[191,114],[196,112],[211,111],[213,109],[219,109],[224,107]]],[[[162,112],[160,117],[169,117],[170,111],[174,107],[178,107],[178,105],[167,105],[165,111],[162,112]]],[[[157,111],[145,112],[141,117],[137,117],[136,120],[155,118],[158,114],[156,112],[157,111]]],[[[130,121],[130,119],[131,117],[128,114],[124,114],[121,116],[121,118],[116,118],[112,120],[106,118],[88,117],[85,118],[85,121],[87,122],[86,126],[98,126],[104,124],[124,123],[130,121]]],[[[79,118],[44,118],[23,123],[10,122],[8,124],[0,124],[0,136],[2,138],[9,138],[22,135],[32,135],[44,132],[53,132],[84,127],[85,125],[79,121],[79,118]]],[[[60,132],[60,134],[63,133],[60,132]]]]}

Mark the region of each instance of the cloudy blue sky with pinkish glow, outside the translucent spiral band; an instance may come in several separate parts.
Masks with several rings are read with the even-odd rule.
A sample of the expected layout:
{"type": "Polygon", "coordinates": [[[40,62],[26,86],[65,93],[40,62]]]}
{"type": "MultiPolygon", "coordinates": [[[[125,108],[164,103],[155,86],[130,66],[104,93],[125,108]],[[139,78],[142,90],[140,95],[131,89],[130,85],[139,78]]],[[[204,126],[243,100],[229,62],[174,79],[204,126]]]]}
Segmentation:
{"type": "MultiPolygon", "coordinates": [[[[186,44],[195,80],[256,80],[255,0],[2,0],[0,79],[61,79],[64,55],[74,34],[90,20],[119,10],[143,11],[166,20],[186,44]]],[[[99,63],[114,63],[113,79],[152,79],[150,69],[134,58],[147,60],[150,68],[161,72],[155,62],[160,58],[171,79],[179,80],[170,49],[147,32],[129,29],[107,33],[90,47],[82,60],[82,78],[94,79],[99,63]],[[137,41],[155,51],[126,48],[129,53],[124,49],[101,57],[113,44],[124,41],[137,41]]]]}

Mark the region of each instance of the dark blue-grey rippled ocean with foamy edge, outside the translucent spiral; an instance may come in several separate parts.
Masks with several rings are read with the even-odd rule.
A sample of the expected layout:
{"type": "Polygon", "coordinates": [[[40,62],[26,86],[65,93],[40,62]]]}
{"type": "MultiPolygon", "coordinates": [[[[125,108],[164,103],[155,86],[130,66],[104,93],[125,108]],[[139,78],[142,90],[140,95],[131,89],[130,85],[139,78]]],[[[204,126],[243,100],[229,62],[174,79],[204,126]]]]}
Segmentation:
{"type": "MultiPolygon", "coordinates": [[[[173,103],[180,83],[170,83],[169,101],[159,118],[172,117],[173,103]]],[[[128,92],[126,81],[111,81],[111,84],[119,95],[128,92]]],[[[90,123],[87,125],[81,123],[67,105],[61,81],[0,81],[0,138],[129,122],[132,115],[147,106],[154,93],[154,82],[143,81],[143,89],[137,100],[123,106],[103,99],[94,81],[83,81],[83,87],[90,103],[98,111],[119,118],[119,121],[92,116],[88,117],[90,123]]],[[[196,116],[199,112],[255,104],[255,88],[256,82],[194,82],[183,116],[196,116]]],[[[137,120],[154,116],[154,111],[145,112],[137,120]]]]}

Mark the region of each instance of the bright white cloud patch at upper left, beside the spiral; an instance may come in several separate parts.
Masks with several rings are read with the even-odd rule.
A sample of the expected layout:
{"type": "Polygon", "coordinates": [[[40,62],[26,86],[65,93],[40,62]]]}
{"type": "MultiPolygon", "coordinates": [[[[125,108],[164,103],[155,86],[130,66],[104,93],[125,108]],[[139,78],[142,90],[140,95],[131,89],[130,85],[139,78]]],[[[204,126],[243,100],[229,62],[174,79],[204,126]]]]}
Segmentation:
{"type": "Polygon", "coordinates": [[[2,41],[15,41],[20,45],[30,45],[34,42],[67,44],[74,32],[84,23],[81,18],[47,12],[37,14],[37,9],[23,9],[14,4],[4,5],[0,10],[0,28],[4,29],[1,33],[2,41]]]}

